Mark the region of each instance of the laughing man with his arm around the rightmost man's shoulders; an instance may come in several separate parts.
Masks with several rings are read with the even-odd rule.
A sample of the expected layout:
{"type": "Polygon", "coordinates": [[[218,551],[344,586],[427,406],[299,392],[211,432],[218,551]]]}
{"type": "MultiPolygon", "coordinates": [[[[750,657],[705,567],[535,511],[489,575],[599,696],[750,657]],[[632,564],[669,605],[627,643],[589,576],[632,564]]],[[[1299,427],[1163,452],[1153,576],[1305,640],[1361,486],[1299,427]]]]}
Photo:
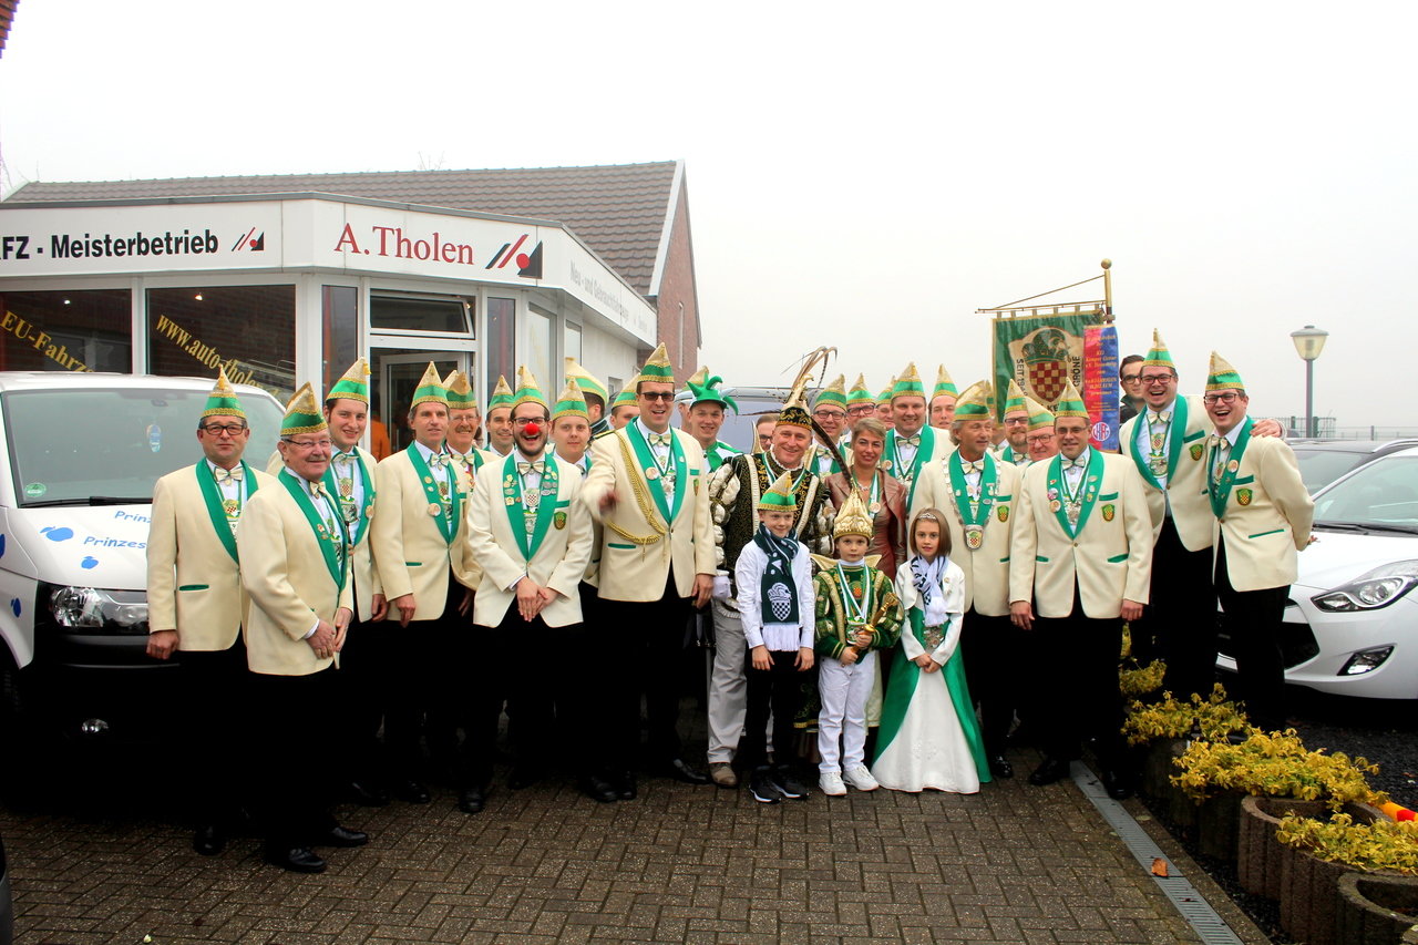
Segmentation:
{"type": "MultiPolygon", "coordinates": [[[[1210,423],[1200,397],[1177,396],[1177,368],[1156,331],[1151,350],[1130,370],[1139,375],[1144,409],[1123,424],[1119,446],[1141,474],[1153,524],[1151,606],[1129,624],[1133,657],[1144,665],[1166,660],[1163,687],[1178,700],[1207,695],[1217,663],[1212,515],[1202,455],[1210,423]]],[[[1255,436],[1279,433],[1275,420],[1255,424],[1255,436]]]]}

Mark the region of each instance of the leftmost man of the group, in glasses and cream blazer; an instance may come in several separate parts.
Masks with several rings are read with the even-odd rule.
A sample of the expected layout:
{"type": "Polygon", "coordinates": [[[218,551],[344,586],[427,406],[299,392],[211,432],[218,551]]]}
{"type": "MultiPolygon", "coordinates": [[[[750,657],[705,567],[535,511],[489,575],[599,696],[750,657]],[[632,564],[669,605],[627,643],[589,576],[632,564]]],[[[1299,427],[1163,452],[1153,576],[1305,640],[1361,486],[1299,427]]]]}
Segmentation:
{"type": "Polygon", "coordinates": [[[238,708],[245,697],[247,648],[241,616],[247,595],[237,566],[237,522],[265,472],[241,458],[251,438],[237,392],[218,370],[197,421],[203,458],[157,480],[147,538],[147,656],[182,664],[184,708],[176,712],[190,780],[184,797],[193,849],[216,856],[241,809],[245,769],[238,708]]]}

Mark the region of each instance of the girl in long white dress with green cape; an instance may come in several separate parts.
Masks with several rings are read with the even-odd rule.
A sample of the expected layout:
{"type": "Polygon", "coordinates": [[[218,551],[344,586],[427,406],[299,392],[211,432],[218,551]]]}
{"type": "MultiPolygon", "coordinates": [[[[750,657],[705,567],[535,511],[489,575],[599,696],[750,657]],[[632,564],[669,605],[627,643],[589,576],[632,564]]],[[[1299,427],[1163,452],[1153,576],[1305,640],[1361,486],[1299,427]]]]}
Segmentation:
{"type": "Polygon", "coordinates": [[[876,735],[872,775],[892,790],[973,795],[990,780],[960,654],[964,572],[950,560],[946,516],[910,524],[910,558],[896,570],[906,613],[876,735]]]}

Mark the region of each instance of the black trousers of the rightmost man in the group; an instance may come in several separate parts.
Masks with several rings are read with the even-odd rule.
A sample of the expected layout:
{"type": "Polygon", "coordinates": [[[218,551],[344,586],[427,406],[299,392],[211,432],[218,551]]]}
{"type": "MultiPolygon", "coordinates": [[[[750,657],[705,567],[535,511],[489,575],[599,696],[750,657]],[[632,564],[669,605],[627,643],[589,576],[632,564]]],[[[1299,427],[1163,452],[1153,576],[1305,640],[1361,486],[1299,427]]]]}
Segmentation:
{"type": "Polygon", "coordinates": [[[1251,722],[1265,731],[1285,728],[1285,657],[1280,624],[1290,586],[1236,590],[1227,572],[1227,545],[1217,539],[1217,596],[1227,614],[1231,651],[1236,657],[1236,695],[1251,722]]]}

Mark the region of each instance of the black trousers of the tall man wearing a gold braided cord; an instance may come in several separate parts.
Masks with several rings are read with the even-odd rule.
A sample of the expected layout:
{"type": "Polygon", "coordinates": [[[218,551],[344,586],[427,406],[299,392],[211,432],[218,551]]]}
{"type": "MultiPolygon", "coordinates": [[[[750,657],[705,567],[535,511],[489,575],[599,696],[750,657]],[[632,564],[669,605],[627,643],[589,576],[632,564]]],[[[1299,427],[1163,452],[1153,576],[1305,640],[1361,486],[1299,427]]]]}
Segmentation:
{"type": "MultiPolygon", "coordinates": [[[[679,661],[689,626],[689,597],[675,589],[671,569],[659,600],[600,602],[598,617],[608,641],[596,660],[605,691],[610,729],[604,758],[613,770],[630,770],[640,748],[640,700],[645,695],[649,758],[665,763],[679,758],[679,661]]],[[[603,637],[604,639],[604,637],[603,637]]]]}

